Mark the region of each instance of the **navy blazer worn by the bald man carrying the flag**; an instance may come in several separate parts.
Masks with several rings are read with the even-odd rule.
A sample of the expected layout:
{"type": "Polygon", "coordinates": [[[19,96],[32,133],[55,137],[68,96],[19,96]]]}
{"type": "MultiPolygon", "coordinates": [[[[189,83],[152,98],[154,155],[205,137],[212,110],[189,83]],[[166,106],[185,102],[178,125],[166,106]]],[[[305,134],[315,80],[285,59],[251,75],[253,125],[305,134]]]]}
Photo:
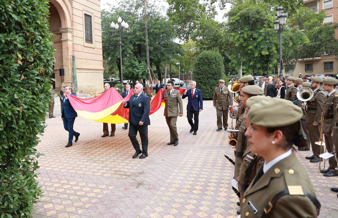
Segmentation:
{"type": "Polygon", "coordinates": [[[125,105],[125,108],[129,108],[129,122],[134,125],[139,125],[139,122],[143,122],[143,126],[150,125],[149,112],[150,112],[150,101],[149,97],[144,93],[140,94],[133,104],[136,94],[130,96],[129,101],[125,105]]]}

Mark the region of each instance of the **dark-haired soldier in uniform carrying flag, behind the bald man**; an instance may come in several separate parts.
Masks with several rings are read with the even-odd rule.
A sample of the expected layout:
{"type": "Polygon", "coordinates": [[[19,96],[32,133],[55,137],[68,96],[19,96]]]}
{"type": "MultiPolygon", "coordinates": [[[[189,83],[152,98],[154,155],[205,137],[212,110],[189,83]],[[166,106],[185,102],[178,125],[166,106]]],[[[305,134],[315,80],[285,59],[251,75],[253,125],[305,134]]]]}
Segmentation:
{"type": "Polygon", "coordinates": [[[170,130],[170,142],[168,145],[178,145],[177,134],[177,116],[183,116],[183,101],[181,93],[174,89],[174,82],[168,81],[167,91],[163,92],[162,99],[165,102],[164,116],[166,117],[167,125],[170,130]]]}

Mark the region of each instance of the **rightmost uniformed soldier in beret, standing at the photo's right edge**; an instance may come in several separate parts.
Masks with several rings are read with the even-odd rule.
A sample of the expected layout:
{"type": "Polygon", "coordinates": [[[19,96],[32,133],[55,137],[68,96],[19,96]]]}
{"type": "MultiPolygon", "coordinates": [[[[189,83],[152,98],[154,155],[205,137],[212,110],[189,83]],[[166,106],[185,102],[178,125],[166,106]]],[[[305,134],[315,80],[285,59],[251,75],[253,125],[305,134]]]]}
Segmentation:
{"type": "MultiPolygon", "coordinates": [[[[325,138],[325,145],[327,151],[332,153],[333,152],[333,142],[332,142],[332,135],[334,130],[333,125],[333,118],[336,112],[336,106],[338,103],[338,93],[335,90],[338,81],[334,78],[325,78],[323,80],[323,89],[324,91],[328,92],[328,95],[324,101],[323,107],[323,117],[324,117],[324,124],[323,124],[323,133],[325,138]]],[[[335,157],[329,158],[329,167],[326,170],[321,170],[321,173],[324,173],[324,176],[337,176],[338,170],[335,168],[337,167],[337,161],[335,157]]]]}

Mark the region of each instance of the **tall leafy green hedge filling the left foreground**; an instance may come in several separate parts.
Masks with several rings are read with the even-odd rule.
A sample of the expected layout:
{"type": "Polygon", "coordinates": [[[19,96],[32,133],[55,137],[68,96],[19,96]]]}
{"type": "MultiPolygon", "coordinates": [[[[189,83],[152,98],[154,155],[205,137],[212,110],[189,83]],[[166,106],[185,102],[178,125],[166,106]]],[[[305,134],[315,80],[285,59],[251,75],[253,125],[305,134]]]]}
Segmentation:
{"type": "Polygon", "coordinates": [[[32,217],[54,61],[47,0],[0,4],[0,215],[32,217]]]}

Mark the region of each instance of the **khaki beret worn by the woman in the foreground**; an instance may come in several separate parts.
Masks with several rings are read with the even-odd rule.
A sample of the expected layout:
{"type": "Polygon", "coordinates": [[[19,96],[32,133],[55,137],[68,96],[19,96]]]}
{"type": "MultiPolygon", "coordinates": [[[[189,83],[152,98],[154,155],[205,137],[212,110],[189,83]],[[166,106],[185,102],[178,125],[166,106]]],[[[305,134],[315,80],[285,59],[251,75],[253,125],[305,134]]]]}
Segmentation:
{"type": "Polygon", "coordinates": [[[270,101],[261,101],[259,104],[252,105],[247,118],[252,124],[261,127],[284,127],[299,121],[302,116],[301,108],[291,101],[272,98],[270,101]],[[283,119],[275,119],[275,114],[279,114],[283,119]]]}

